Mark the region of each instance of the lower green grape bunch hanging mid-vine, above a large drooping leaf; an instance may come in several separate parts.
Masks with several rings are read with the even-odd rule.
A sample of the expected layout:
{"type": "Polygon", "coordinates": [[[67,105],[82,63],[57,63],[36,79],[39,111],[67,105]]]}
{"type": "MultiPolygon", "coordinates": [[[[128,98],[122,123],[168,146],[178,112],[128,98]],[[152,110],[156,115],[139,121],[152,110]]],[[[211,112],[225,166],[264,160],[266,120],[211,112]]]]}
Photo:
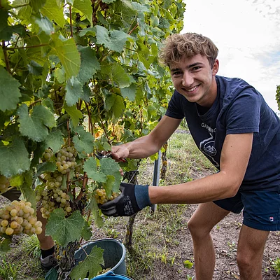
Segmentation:
{"type": "Polygon", "coordinates": [[[43,174],[46,180],[45,188],[38,190],[36,193],[36,201],[41,201],[40,209],[43,218],[50,218],[50,214],[54,209],[61,208],[68,216],[71,209],[71,200],[66,190],[62,189],[63,174],[60,172],[46,172],[43,174]]]}

